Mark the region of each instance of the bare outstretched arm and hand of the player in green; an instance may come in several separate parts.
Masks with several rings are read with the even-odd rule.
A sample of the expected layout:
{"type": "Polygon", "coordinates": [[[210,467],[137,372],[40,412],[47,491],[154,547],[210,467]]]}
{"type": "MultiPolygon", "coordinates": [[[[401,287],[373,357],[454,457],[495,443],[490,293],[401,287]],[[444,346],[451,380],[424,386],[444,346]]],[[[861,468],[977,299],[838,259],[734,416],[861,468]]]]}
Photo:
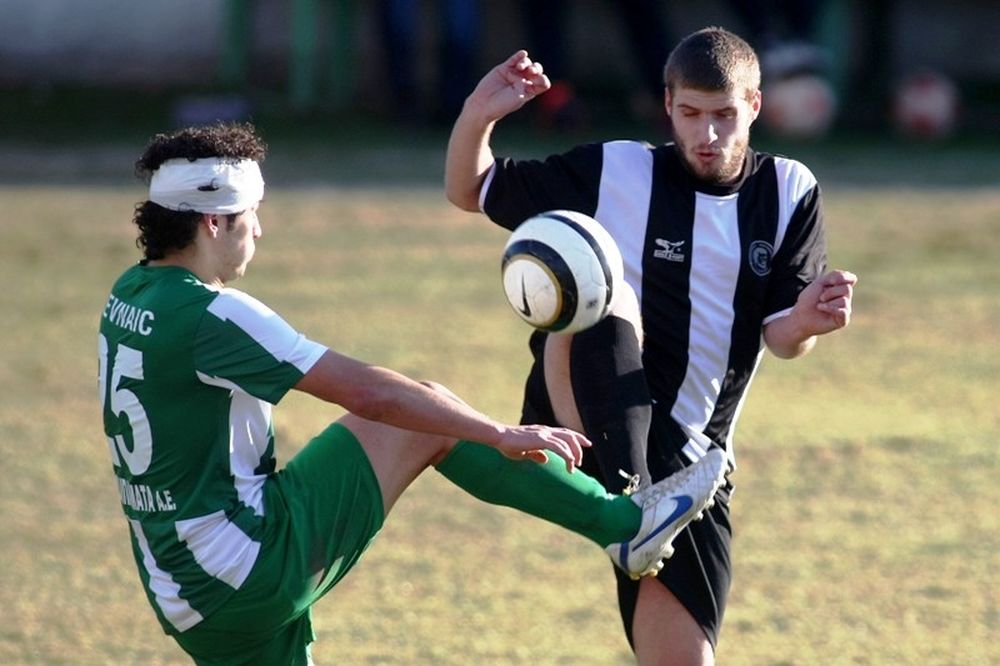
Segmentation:
{"type": "Polygon", "coordinates": [[[589,446],[585,437],[570,430],[503,425],[457,396],[332,350],[320,357],[295,388],[370,421],[473,440],[512,457],[545,462],[544,451],[552,451],[570,469],[580,464],[582,447],[589,446]]]}

